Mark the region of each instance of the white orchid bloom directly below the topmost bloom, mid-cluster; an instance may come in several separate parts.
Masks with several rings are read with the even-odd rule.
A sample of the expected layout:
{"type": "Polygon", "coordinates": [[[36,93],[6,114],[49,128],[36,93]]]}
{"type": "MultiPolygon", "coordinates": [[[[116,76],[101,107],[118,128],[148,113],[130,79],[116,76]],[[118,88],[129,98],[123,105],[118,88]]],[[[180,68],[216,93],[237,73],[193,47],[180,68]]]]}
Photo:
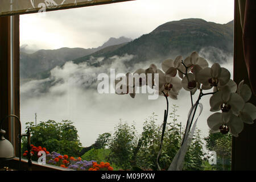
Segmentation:
{"type": "Polygon", "coordinates": [[[187,90],[191,91],[194,94],[197,90],[198,83],[196,81],[196,76],[192,73],[188,73],[181,81],[182,87],[187,90]]]}

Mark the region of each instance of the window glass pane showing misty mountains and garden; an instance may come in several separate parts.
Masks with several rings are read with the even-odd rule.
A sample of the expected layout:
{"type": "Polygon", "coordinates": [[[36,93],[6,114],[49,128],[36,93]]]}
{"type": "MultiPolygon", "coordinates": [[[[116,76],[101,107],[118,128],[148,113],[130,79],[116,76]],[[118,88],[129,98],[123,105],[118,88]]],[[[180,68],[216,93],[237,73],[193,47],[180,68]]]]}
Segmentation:
{"type": "MultiPolygon", "coordinates": [[[[162,69],[164,60],[185,60],[197,51],[209,67],[217,62],[233,78],[233,4],[140,0],[21,15],[20,117],[23,132],[32,127],[32,159],[45,147],[46,162],[55,166],[158,170],[166,98],[100,94],[97,77],[134,73],[153,63],[162,69]]],[[[203,112],[184,170],[230,170],[231,135],[209,134],[211,96],[200,100],[203,112]]],[[[162,170],[180,148],[191,109],[188,91],[181,89],[177,98],[168,97],[162,170]]]]}

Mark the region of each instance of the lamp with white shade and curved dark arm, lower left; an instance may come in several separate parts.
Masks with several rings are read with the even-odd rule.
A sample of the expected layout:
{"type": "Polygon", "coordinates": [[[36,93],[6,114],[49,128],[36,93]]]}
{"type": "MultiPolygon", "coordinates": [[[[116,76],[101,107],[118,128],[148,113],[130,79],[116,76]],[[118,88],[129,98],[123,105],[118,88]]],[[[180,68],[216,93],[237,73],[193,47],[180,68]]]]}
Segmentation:
{"type": "MultiPolygon", "coordinates": [[[[31,150],[31,146],[30,146],[30,129],[27,130],[26,134],[21,134],[21,123],[20,123],[20,119],[19,117],[17,117],[16,115],[7,115],[7,117],[3,118],[0,122],[0,161],[2,160],[10,160],[13,159],[15,157],[14,155],[14,147],[13,144],[11,144],[11,142],[9,142],[9,140],[5,139],[4,135],[5,135],[5,130],[2,130],[2,123],[3,121],[5,121],[5,119],[9,118],[9,117],[14,117],[19,121],[19,126],[20,126],[20,130],[19,130],[19,169],[20,169],[20,164],[21,164],[21,139],[22,137],[27,137],[27,150],[28,150],[28,154],[30,154],[30,150],[31,150]]],[[[31,162],[31,155],[28,155],[28,170],[31,169],[32,166],[32,162],[31,162]]]]}

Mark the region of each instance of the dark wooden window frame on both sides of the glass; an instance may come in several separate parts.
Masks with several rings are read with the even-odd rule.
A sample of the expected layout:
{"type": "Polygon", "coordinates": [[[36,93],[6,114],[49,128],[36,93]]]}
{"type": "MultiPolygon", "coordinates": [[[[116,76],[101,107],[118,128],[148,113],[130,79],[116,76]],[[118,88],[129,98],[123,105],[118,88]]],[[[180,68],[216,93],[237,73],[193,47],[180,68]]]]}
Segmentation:
{"type": "MultiPolygon", "coordinates": [[[[13,16],[13,40],[14,40],[14,56],[13,56],[13,114],[20,115],[19,108],[19,15],[13,16]]],[[[0,118],[11,114],[11,99],[10,99],[10,16],[0,17],[0,118]]],[[[249,84],[249,78],[245,65],[242,47],[242,29],[240,22],[240,13],[238,7],[238,0],[234,0],[234,81],[237,83],[241,80],[245,80],[245,83],[249,84]]],[[[252,96],[251,103],[256,105],[256,97],[252,96]]],[[[19,126],[15,125],[14,121],[9,119],[9,122],[3,123],[3,129],[6,130],[6,139],[13,140],[15,154],[18,155],[18,136],[19,126]],[[11,126],[13,122],[13,131],[11,126]],[[12,133],[13,132],[13,133],[12,133]],[[12,136],[13,135],[13,136],[12,136]]],[[[246,125],[238,138],[232,139],[232,170],[256,170],[256,123],[253,125],[246,125]]],[[[26,163],[26,160],[22,160],[22,166],[26,163]]],[[[10,160],[7,164],[11,167],[18,166],[18,158],[10,160]]],[[[32,169],[35,170],[58,170],[63,171],[57,167],[51,167],[48,165],[40,165],[37,163],[32,164],[32,169]]],[[[24,167],[25,168],[25,167],[24,167]]]]}

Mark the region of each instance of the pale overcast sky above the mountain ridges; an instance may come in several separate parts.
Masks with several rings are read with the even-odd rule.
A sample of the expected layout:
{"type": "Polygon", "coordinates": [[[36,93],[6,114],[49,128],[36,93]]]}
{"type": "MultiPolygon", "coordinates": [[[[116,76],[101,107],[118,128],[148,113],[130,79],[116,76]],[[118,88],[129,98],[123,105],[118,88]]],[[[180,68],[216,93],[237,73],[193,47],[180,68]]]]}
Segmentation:
{"type": "Polygon", "coordinates": [[[20,16],[20,45],[93,48],[110,37],[136,39],[172,20],[202,18],[224,24],[233,16],[234,0],[137,0],[27,14],[20,16]]]}

